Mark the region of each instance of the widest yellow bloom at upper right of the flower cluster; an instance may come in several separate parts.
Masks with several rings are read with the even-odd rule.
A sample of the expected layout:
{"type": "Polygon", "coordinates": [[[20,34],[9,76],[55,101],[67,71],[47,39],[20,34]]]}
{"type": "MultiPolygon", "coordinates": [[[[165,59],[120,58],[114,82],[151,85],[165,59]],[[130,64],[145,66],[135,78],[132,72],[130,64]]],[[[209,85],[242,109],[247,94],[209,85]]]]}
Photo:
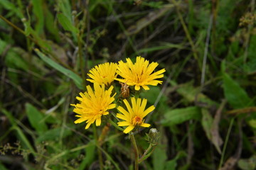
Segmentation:
{"type": "Polygon", "coordinates": [[[159,65],[157,62],[151,62],[145,60],[143,57],[137,57],[136,62],[133,64],[132,60],[126,59],[127,62],[118,62],[117,74],[124,79],[116,79],[122,83],[126,83],[128,86],[135,86],[135,90],[139,91],[140,86],[145,90],[149,90],[149,86],[156,86],[161,84],[163,81],[159,81],[161,77],[164,77],[165,69],[161,69],[154,72],[154,69],[159,65]],[[154,73],[152,73],[154,72],[154,73]]]}

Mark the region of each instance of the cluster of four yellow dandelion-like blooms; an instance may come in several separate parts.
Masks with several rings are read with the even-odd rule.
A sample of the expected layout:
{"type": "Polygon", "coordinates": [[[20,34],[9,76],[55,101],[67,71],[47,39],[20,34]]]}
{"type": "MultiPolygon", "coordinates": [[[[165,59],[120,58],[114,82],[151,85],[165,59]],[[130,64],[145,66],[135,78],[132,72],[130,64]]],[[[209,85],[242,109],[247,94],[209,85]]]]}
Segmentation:
{"type": "Polygon", "coordinates": [[[139,126],[148,128],[150,125],[144,123],[144,117],[154,111],[154,106],[146,108],[147,100],[132,96],[130,89],[138,92],[141,87],[149,90],[149,85],[161,84],[162,81],[157,79],[164,77],[165,69],[154,72],[157,66],[156,62],[149,64],[149,61],[143,57],[137,57],[135,63],[127,58],[126,62],[106,62],[90,69],[87,74],[90,79],[87,81],[93,83],[93,89],[88,85],[87,91],[80,93],[80,97],[77,97],[80,103],[71,104],[75,106],[73,111],[78,114],[76,115],[78,120],[75,120],[75,123],[85,121],[87,123],[85,129],[92,123],[100,126],[102,115],[108,115],[111,109],[117,108],[119,113],[114,115],[122,120],[117,123],[118,126],[127,127],[124,133],[129,133],[139,126]],[[119,103],[114,98],[116,96],[113,92],[114,81],[119,81],[122,85],[119,95],[122,101],[119,103]]]}

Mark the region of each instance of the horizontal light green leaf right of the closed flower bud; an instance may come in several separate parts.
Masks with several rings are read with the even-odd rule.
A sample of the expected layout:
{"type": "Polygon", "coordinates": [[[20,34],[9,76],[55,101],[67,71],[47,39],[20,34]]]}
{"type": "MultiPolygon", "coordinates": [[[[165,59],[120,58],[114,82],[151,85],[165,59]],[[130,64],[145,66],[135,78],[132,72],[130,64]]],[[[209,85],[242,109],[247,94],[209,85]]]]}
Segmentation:
{"type": "Polygon", "coordinates": [[[177,125],[187,120],[200,120],[201,110],[198,107],[177,108],[167,112],[161,124],[164,126],[177,125]]]}

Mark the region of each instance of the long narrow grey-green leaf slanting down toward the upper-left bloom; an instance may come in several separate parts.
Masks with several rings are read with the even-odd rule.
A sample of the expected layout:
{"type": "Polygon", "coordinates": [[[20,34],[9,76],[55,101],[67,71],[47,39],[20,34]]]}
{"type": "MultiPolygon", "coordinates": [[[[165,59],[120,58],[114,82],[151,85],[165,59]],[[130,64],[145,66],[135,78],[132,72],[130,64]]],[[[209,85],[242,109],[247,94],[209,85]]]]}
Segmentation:
{"type": "Polygon", "coordinates": [[[57,69],[59,72],[65,74],[65,76],[69,77],[70,79],[73,79],[73,81],[75,82],[75,85],[78,86],[79,89],[83,89],[82,88],[82,78],[78,76],[78,74],[75,74],[74,72],[70,71],[69,69],[65,69],[64,67],[62,67],[60,64],[58,64],[57,62],[54,62],[53,60],[51,60],[49,57],[46,57],[46,55],[44,55],[42,52],[40,52],[38,49],[35,50],[36,53],[39,55],[39,57],[41,57],[41,59],[46,62],[47,64],[49,64],[51,67],[53,67],[54,69],[57,69]]]}

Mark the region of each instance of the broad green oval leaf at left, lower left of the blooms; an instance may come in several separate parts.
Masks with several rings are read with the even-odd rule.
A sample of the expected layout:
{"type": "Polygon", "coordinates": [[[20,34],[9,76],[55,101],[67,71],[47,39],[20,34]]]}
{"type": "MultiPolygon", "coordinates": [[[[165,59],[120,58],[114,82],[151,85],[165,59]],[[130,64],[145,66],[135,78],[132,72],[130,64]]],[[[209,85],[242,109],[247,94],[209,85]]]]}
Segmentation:
{"type": "Polygon", "coordinates": [[[46,123],[43,121],[43,113],[38,111],[30,103],[26,103],[26,114],[28,116],[29,123],[38,133],[46,132],[48,128],[46,123]]]}

